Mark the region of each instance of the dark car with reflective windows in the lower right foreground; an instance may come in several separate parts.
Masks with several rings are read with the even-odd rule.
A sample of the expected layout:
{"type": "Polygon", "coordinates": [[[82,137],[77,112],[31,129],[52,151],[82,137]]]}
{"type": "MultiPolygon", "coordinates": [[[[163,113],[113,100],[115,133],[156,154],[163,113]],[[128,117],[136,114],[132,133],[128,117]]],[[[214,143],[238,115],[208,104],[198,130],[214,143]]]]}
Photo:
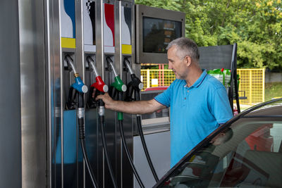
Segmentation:
{"type": "Polygon", "coordinates": [[[282,187],[282,98],[235,115],[154,187],[282,187]]]}

